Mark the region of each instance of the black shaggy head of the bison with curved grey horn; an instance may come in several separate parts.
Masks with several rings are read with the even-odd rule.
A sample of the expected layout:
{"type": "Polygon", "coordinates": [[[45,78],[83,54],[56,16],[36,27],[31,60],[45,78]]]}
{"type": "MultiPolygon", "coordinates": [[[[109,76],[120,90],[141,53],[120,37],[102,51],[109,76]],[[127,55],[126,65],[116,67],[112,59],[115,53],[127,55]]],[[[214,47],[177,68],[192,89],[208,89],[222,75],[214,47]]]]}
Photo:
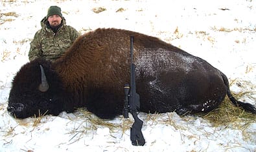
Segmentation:
{"type": "Polygon", "coordinates": [[[25,64],[12,81],[8,112],[18,119],[44,113],[58,115],[64,110],[65,91],[51,62],[36,59],[25,64]]]}

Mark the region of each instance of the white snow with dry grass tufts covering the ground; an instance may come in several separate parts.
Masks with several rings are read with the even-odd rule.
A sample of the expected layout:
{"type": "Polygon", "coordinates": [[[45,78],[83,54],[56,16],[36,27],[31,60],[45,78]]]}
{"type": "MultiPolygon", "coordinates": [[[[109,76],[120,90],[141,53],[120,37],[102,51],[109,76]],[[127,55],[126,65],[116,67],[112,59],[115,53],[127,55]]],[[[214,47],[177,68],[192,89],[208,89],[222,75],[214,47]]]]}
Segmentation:
{"type": "Polygon", "coordinates": [[[250,92],[240,100],[256,105],[256,1],[17,0],[0,5],[0,151],[256,151],[256,121],[237,129],[234,124],[215,127],[196,116],[140,113],[146,144],[132,146],[125,129],[131,116],[99,120],[80,110],[18,120],[6,111],[12,78],[29,61],[29,43],[51,5],[60,6],[67,24],[81,33],[100,27],[133,30],[201,57],[227,75],[231,91],[250,92]],[[92,11],[100,7],[106,10],[92,11]]]}

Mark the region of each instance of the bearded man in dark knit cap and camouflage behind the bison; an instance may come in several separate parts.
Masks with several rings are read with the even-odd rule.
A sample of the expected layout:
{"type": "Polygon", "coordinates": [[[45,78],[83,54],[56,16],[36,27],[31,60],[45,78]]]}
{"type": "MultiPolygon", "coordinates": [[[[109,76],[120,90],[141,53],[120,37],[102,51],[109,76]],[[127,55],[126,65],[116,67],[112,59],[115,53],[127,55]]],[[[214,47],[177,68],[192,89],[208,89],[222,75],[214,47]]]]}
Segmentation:
{"type": "Polygon", "coordinates": [[[29,61],[42,57],[56,61],[80,35],[75,28],[67,26],[61,8],[50,6],[47,16],[41,20],[41,30],[30,43],[29,61]]]}

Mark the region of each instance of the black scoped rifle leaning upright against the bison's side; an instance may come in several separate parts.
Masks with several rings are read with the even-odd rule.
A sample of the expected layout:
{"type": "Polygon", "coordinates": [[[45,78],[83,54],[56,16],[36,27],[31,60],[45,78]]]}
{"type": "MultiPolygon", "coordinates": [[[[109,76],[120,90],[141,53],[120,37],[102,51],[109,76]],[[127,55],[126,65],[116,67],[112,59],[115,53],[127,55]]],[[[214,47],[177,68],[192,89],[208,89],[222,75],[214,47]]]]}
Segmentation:
{"type": "Polygon", "coordinates": [[[130,86],[129,84],[124,85],[124,118],[128,118],[128,113],[132,114],[134,117],[134,124],[132,124],[132,128],[130,131],[130,139],[132,141],[132,145],[134,146],[144,146],[145,138],[141,132],[141,128],[143,126],[143,121],[139,119],[139,94],[136,93],[135,86],[135,64],[133,62],[133,53],[134,53],[134,37],[130,37],[130,53],[131,53],[131,76],[130,76],[130,86]]]}

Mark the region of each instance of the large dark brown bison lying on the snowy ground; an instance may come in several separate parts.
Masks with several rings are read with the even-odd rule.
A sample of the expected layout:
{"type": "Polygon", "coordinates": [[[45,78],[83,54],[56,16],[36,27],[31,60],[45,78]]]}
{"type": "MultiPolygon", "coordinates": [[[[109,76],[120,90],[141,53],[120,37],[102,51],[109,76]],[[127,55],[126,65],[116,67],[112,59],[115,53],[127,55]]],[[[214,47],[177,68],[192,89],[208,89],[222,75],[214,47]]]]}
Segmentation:
{"type": "Polygon", "coordinates": [[[124,84],[130,82],[131,35],[141,111],[206,113],[227,95],[256,113],[231,95],[226,75],[207,61],[156,37],[115,28],[81,35],[56,62],[36,59],[23,65],[12,81],[9,113],[24,119],[86,107],[101,119],[121,115],[124,84]]]}

